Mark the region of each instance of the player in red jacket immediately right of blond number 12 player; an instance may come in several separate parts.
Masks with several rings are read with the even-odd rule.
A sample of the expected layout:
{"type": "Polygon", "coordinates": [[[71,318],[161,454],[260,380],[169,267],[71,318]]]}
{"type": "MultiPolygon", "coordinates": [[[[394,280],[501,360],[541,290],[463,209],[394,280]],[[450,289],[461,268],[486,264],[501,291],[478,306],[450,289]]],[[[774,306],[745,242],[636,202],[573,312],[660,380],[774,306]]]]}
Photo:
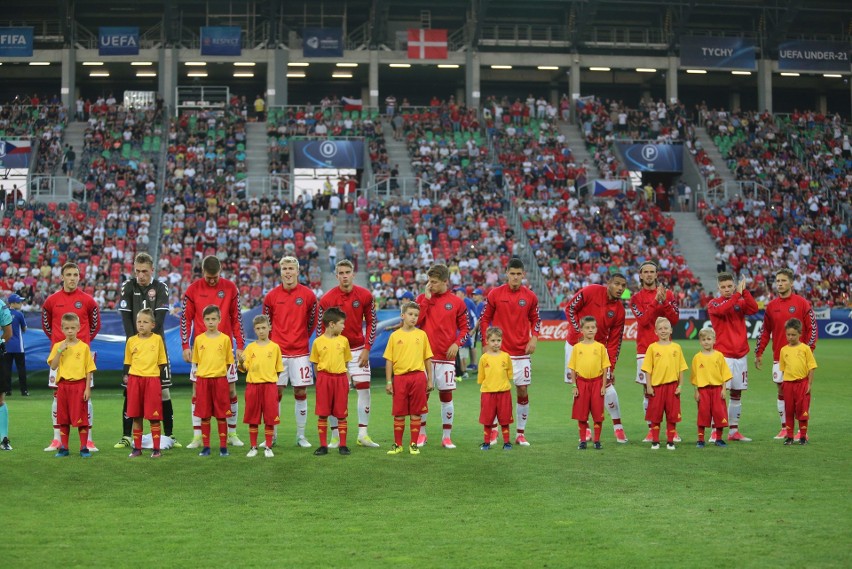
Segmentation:
{"type": "MultiPolygon", "coordinates": [[[[352,360],[349,362],[349,375],[355,390],[358,392],[358,446],[376,448],[367,433],[370,423],[370,348],[376,339],[376,305],[373,295],[364,287],[355,284],[355,265],[344,259],[335,266],[338,285],[324,295],[319,301],[318,334],[325,333],[322,325],[322,315],[326,310],[337,307],[346,314],[343,325],[343,335],[349,340],[352,360]],[[366,328],[366,333],[364,331],[366,328]]],[[[329,448],[337,448],[340,435],[337,431],[337,417],[330,416],[328,425],[331,428],[329,448]]]]}

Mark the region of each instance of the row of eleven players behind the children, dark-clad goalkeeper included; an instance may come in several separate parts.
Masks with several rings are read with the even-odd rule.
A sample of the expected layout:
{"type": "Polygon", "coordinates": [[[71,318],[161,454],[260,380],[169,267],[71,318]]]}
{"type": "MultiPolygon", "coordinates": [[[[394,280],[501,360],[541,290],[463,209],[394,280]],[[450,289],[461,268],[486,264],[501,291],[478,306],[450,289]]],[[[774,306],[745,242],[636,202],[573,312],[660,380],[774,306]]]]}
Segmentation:
{"type": "MultiPolygon", "coordinates": [[[[293,387],[294,415],[296,423],[297,444],[308,448],[310,442],[305,437],[307,423],[307,387],[313,384],[313,370],[309,360],[309,338],[318,328],[323,332],[322,314],[330,307],[338,307],[346,314],[343,336],[350,343],[352,360],[349,362],[349,372],[358,393],[358,444],[364,447],[378,447],[368,434],[370,418],[370,365],[369,352],[375,340],[376,309],[370,292],[354,284],[354,267],[349,261],[340,261],[336,266],[338,286],[323,295],[320,301],[306,286],[299,284],[299,262],[295,257],[284,257],[279,262],[282,283],[270,291],[263,302],[263,312],[271,322],[270,338],[279,345],[282,353],[284,371],[279,375],[279,402],[287,385],[293,387]]],[[[145,253],[137,255],[134,263],[134,278],[122,286],[119,311],[125,333],[128,338],[135,335],[136,315],[142,308],[149,308],[156,315],[154,333],[162,334],[163,321],[168,313],[168,291],[165,285],[153,279],[153,260],[145,253]]],[[[184,310],[180,322],[180,335],[183,357],[191,361],[191,343],[198,335],[203,334],[203,308],[210,305],[219,307],[221,322],[219,330],[226,334],[236,344],[237,360],[245,348],[245,334],[239,306],[239,295],[236,285],[220,277],[221,264],[215,256],[209,256],[202,261],[202,279],[192,283],[184,297],[184,310]]],[[[630,308],[637,320],[637,372],[636,382],[645,384],[645,373],[642,372],[645,352],[655,341],[654,323],[663,317],[672,325],[677,324],[679,311],[673,293],[666,290],[657,279],[657,265],[647,261],[639,269],[641,288],[630,299],[630,308]]],[[[778,271],[775,287],[778,296],[767,306],[764,326],[756,349],[756,367],[760,369],[763,353],[769,341],[773,347],[773,380],[778,384],[778,412],[782,429],[776,438],[784,438],[784,400],[781,390],[783,376],[778,369],[778,359],[781,348],[786,345],[784,331],[785,322],[789,318],[798,318],[803,322],[803,340],[811,350],[816,347],[817,327],[814,312],[810,303],[803,297],[792,292],[793,273],[789,269],[778,271]]],[[[449,290],[449,271],[444,265],[434,265],[427,272],[425,291],[417,298],[421,307],[417,326],[423,329],[435,358],[432,362],[432,377],[441,403],[442,446],[455,448],[451,432],[455,416],[453,406],[453,391],[456,389],[455,360],[460,346],[470,339],[471,327],[468,316],[468,306],[465,301],[449,290]]],[[[531,355],[535,352],[540,330],[538,299],[529,288],[523,286],[525,269],[523,262],[512,259],[506,270],[506,284],[492,289],[483,306],[478,328],[485,336],[489,326],[498,326],[504,331],[503,350],[512,359],[513,377],[516,386],[517,429],[515,443],[528,446],[526,438],[526,422],[529,417],[529,385],[532,381],[531,355]]],[[[42,323],[45,333],[52,344],[64,340],[61,331],[61,318],[67,312],[77,314],[80,318],[79,338],[86,344],[97,336],[100,330],[100,315],[94,299],[78,288],[80,280],[79,268],[68,263],[62,269],[63,288],[45,301],[42,308],[42,323]]],[[[734,284],[730,273],[721,273],[718,277],[720,295],[713,299],[708,312],[717,334],[716,349],[722,352],[733,374],[728,386],[730,400],[728,416],[730,430],[728,439],[749,441],[739,432],[739,421],[742,409],[742,394],[748,388],[748,365],[746,355],[749,351],[746,335],[745,317],[757,312],[757,303],[741,281],[734,284]]],[[[618,394],[615,389],[614,370],[621,349],[624,329],[624,304],[622,293],[627,287],[627,279],[623,274],[612,274],[606,285],[588,285],[580,289],[568,302],[566,316],[569,321],[569,334],[565,346],[565,381],[570,382],[567,373],[567,363],[571,356],[572,347],[581,340],[580,321],[584,316],[593,316],[597,323],[596,340],[604,344],[612,366],[606,375],[605,405],[609,412],[618,442],[626,443],[627,436],[621,423],[621,413],[618,394]]],[[[194,366],[193,366],[194,367],[194,366]]],[[[195,416],[195,382],[193,380],[193,439],[187,445],[196,448],[201,444],[201,419],[195,416]]],[[[243,446],[236,434],[238,417],[238,400],[236,394],[236,366],[228,373],[230,386],[231,409],[228,414],[228,442],[233,446],[243,446]]],[[[50,386],[55,389],[55,372],[51,373],[50,386]]],[[[180,446],[173,433],[173,411],[169,389],[171,376],[166,374],[163,383],[163,435],[174,446],[180,446]]],[[[643,390],[644,391],[644,390],[643,390]]],[[[647,409],[647,398],[643,398],[647,409]]],[[[88,443],[91,451],[97,451],[92,442],[93,412],[91,401],[88,404],[88,443]]],[[[116,447],[130,446],[130,427],[132,421],[126,416],[126,400],[123,413],[123,436],[116,447]]],[[[60,446],[58,425],[56,424],[56,401],[52,407],[54,438],[46,451],[55,451],[60,446]]],[[[427,442],[426,435],[427,413],[422,414],[422,426],[418,446],[427,442]]],[[[336,432],[336,421],[330,420],[331,442],[329,447],[335,448],[339,435],[336,432]]],[[[497,432],[494,431],[494,442],[497,432]]],[[[646,437],[646,441],[650,439],[646,437]]],[[[587,432],[587,439],[591,432],[587,432]]],[[[677,441],[679,438],[676,438],[677,441]]],[[[711,439],[712,441],[712,439],[711,439]]],[[[263,446],[263,445],[261,445],[263,446]]]]}

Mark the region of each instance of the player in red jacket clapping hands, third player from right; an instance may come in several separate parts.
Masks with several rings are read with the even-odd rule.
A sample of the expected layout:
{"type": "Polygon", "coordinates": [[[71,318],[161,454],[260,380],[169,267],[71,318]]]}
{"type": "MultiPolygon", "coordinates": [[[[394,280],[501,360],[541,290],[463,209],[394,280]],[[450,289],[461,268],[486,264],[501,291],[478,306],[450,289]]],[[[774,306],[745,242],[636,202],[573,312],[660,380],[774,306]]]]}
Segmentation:
{"type": "MultiPolygon", "coordinates": [[[[645,372],[642,371],[642,364],[645,363],[645,351],[648,346],[657,341],[657,334],[654,331],[657,318],[665,318],[674,327],[680,320],[680,310],[672,291],[666,290],[666,287],[657,280],[657,263],[645,261],[639,265],[639,280],[641,287],[630,298],[630,310],[633,311],[633,316],[636,318],[636,383],[642,385],[642,403],[645,412],[647,412],[648,398],[644,396],[647,378],[645,372]]],[[[642,442],[651,442],[650,426],[649,423],[648,436],[642,442]]],[[[677,432],[675,432],[675,442],[680,442],[680,436],[677,432]]]]}

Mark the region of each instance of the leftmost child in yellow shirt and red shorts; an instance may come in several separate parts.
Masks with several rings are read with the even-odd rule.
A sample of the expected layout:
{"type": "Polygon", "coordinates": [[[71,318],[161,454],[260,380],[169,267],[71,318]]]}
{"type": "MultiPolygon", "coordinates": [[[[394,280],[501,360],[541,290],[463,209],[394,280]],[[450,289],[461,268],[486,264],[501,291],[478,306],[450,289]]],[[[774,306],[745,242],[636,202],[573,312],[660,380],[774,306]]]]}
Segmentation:
{"type": "Polygon", "coordinates": [[[68,435],[71,427],[76,427],[80,435],[80,456],[91,458],[92,453],[86,443],[89,438],[90,386],[97,368],[89,345],[77,338],[79,316],[68,312],[62,315],[61,323],[65,340],[53,344],[47,357],[50,369],[56,370],[56,424],[59,425],[60,444],[54,456],[69,455],[68,435]]]}

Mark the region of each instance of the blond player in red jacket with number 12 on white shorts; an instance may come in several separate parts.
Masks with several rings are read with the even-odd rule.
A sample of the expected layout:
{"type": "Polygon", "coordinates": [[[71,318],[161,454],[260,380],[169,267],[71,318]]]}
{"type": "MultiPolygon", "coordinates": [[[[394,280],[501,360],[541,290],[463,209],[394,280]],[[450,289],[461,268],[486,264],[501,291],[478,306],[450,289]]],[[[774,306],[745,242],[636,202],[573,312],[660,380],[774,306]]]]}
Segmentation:
{"type": "Polygon", "coordinates": [[[279,397],[287,384],[293,386],[296,414],[296,444],[310,448],[305,438],[308,422],[308,386],[314,384],[308,342],[317,325],[317,297],[311,289],[299,284],[299,260],[283,257],[281,286],[270,290],[263,299],[263,313],[272,323],[270,339],[281,348],[284,371],[278,376],[279,397]]]}

